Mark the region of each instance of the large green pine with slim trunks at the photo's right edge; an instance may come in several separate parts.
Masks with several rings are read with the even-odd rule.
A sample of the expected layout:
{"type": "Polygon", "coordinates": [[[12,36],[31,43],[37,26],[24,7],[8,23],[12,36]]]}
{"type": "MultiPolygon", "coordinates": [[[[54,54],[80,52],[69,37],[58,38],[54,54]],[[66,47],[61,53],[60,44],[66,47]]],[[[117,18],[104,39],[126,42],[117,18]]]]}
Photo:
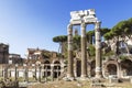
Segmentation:
{"type": "MultiPolygon", "coordinates": [[[[132,19],[120,21],[117,25],[112,28],[112,33],[116,35],[117,50],[119,50],[119,38],[122,38],[122,42],[125,44],[125,48],[129,53],[128,44],[125,43],[127,38],[131,37],[132,34],[132,19]]],[[[120,40],[121,41],[121,40],[120,40]]]]}

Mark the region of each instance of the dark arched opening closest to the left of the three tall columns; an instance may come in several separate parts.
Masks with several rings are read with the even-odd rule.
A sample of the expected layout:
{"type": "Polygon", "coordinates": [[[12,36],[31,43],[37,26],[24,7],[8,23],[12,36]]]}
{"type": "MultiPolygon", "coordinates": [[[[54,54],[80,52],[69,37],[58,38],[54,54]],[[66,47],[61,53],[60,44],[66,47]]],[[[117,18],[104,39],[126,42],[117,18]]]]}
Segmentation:
{"type": "Polygon", "coordinates": [[[61,76],[61,62],[59,61],[54,61],[54,78],[57,78],[61,76]]]}

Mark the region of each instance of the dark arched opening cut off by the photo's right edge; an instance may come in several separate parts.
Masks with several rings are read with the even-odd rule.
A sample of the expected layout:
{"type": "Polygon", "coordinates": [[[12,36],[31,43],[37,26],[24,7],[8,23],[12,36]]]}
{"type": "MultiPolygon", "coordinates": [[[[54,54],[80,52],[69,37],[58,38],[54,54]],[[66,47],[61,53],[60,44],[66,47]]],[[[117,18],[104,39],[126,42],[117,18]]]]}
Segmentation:
{"type": "Polygon", "coordinates": [[[122,76],[132,76],[132,61],[131,59],[123,59],[121,61],[121,73],[122,76]]]}

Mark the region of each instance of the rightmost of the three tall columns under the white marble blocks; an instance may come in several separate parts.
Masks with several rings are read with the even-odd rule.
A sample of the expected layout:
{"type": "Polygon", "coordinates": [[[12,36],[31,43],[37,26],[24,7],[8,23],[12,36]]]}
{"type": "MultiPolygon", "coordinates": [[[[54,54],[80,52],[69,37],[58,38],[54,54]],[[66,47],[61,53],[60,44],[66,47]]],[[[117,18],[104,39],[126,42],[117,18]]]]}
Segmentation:
{"type": "Polygon", "coordinates": [[[101,22],[99,22],[99,21],[97,21],[95,23],[95,35],[96,35],[96,78],[101,78],[102,77],[100,23],[101,22]]]}

